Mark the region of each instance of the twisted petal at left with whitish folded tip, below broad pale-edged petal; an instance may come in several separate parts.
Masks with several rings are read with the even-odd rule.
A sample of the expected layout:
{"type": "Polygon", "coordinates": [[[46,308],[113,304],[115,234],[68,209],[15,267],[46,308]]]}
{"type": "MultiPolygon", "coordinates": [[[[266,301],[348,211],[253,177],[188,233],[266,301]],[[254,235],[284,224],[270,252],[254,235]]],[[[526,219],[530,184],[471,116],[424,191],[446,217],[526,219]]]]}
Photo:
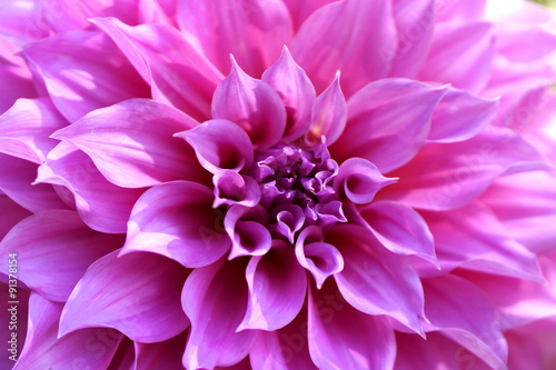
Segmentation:
{"type": "Polygon", "coordinates": [[[108,233],[126,232],[131,209],[145,191],[108,182],[92,160],[67,141],[60,142],[48,154],[47,163],[39,167],[36,181],[66,187],[73,194],[83,222],[91,229],[108,233]]]}

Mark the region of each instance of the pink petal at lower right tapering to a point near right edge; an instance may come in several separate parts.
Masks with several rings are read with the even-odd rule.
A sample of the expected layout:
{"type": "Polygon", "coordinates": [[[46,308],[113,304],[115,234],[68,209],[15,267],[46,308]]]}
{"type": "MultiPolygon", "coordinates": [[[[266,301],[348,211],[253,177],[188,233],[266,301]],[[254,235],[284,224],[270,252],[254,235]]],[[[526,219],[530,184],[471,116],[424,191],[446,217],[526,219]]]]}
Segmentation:
{"type": "Polygon", "coordinates": [[[536,256],[508,237],[481,203],[446,212],[424,212],[443,270],[456,267],[543,281],[536,256]],[[465,246],[465,248],[457,248],[465,246]]]}

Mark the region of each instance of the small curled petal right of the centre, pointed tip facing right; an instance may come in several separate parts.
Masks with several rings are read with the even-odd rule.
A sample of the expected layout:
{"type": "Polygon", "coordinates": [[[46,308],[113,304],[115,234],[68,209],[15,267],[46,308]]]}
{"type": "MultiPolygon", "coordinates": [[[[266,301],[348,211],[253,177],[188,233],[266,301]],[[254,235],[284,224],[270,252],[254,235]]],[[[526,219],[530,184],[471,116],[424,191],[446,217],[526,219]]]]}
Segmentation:
{"type": "Polygon", "coordinates": [[[354,203],[365,204],[373,201],[380,189],[396,181],[397,179],[385,178],[371,162],[350,158],[341,163],[338,176],[334,179],[334,188],[354,203]]]}

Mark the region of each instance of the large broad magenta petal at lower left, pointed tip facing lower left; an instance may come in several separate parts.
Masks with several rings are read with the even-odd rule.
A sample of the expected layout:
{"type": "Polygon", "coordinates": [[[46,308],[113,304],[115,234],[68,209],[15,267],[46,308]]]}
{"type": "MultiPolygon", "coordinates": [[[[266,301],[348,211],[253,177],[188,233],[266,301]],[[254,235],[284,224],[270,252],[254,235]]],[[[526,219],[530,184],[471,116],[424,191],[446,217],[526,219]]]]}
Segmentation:
{"type": "Polygon", "coordinates": [[[186,277],[180,264],[157,254],[107,254],[90,266],[63,307],[60,337],[108,327],[145,343],[172,338],[189,324],[179,303],[186,277]]]}

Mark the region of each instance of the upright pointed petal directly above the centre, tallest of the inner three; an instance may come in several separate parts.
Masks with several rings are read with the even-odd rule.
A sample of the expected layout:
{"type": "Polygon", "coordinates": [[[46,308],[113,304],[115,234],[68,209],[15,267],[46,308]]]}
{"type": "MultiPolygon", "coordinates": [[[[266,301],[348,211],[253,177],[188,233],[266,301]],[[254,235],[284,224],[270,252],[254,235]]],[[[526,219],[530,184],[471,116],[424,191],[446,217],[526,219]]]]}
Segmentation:
{"type": "Polygon", "coordinates": [[[286,47],[280,59],[262,73],[261,79],[278,92],[286,106],[288,119],[282,140],[299,139],[307,132],[310,124],[316,97],[311,81],[294,61],[286,47]]]}

